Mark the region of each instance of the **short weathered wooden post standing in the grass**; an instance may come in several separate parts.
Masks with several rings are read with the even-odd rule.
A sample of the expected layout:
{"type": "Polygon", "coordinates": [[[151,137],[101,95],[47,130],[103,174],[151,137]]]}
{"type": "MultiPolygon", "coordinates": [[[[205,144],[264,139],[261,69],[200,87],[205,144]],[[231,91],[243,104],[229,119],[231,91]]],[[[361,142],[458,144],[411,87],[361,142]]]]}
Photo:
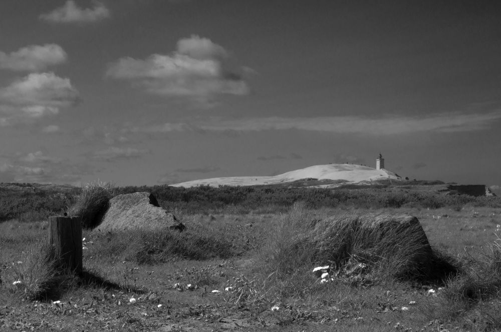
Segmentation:
{"type": "Polygon", "coordinates": [[[82,273],[82,218],[50,216],[49,244],[59,257],[59,266],[82,273]]]}

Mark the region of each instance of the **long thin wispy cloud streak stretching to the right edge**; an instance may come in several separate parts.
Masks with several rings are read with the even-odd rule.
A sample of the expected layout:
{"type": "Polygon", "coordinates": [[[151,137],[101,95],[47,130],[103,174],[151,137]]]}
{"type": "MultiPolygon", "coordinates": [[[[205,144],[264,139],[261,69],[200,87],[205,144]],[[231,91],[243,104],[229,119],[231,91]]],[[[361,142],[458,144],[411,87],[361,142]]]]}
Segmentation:
{"type": "Polygon", "coordinates": [[[164,123],[135,127],[135,131],[263,131],[308,130],[366,135],[395,135],[418,132],[463,132],[491,127],[501,119],[501,111],[488,113],[440,113],[420,117],[387,115],[378,118],[363,116],[322,117],[255,117],[224,119],[208,117],[190,123],[164,123]]]}

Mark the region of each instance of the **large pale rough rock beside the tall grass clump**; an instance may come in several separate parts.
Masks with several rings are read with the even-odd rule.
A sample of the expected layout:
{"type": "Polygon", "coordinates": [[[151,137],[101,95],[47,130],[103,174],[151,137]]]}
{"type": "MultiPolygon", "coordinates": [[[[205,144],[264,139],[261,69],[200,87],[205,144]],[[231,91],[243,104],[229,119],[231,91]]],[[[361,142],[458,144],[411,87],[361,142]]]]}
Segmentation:
{"type": "Polygon", "coordinates": [[[133,228],[147,230],[170,228],[182,231],[185,226],[174,214],[160,207],[153,194],[134,192],[111,198],[108,210],[95,229],[110,231],[133,228]]]}

